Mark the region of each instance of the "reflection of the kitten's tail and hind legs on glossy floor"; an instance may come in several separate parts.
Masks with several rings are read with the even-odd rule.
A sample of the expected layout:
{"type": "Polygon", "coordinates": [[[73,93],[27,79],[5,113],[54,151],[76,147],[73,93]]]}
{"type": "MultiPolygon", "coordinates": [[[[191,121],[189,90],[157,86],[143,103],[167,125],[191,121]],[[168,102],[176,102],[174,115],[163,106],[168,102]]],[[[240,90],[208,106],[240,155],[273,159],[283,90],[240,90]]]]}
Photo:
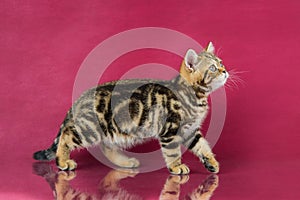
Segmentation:
{"type": "Polygon", "coordinates": [[[82,192],[74,189],[70,181],[76,177],[74,171],[54,171],[48,163],[34,163],[33,173],[45,178],[50,185],[54,197],[57,200],[140,200],[138,195],[130,194],[125,189],[119,187],[119,181],[128,177],[134,177],[138,172],[131,169],[111,170],[100,181],[97,194],[82,192]]]}

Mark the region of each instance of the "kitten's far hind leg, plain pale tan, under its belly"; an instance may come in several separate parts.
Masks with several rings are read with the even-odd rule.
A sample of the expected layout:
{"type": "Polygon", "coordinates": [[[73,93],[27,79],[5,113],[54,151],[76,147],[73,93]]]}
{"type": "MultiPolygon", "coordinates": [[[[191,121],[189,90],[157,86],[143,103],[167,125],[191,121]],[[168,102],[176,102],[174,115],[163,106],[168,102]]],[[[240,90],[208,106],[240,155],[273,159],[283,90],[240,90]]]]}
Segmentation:
{"type": "Polygon", "coordinates": [[[137,168],[140,162],[136,158],[129,158],[124,155],[118,147],[111,147],[101,144],[101,149],[106,158],[113,164],[124,168],[137,168]]]}

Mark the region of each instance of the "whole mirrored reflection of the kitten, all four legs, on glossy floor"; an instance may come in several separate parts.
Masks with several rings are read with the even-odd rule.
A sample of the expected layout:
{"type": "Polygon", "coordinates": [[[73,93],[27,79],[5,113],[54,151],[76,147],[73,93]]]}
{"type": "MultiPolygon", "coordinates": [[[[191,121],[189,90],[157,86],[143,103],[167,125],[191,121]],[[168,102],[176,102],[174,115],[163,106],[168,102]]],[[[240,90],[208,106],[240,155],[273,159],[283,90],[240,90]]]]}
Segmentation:
{"type": "MultiPolygon", "coordinates": [[[[70,180],[76,177],[75,172],[59,171],[56,172],[48,163],[34,163],[33,173],[45,178],[49,186],[53,190],[54,196],[58,200],[139,200],[143,199],[137,194],[130,194],[126,189],[119,186],[122,179],[134,177],[137,175],[136,170],[111,170],[99,183],[98,194],[89,194],[82,192],[80,189],[74,189],[70,185],[70,180]]],[[[160,193],[161,200],[176,200],[180,196],[180,185],[188,182],[189,176],[170,175],[160,193]]],[[[184,199],[191,200],[209,200],[213,192],[218,187],[218,176],[211,175],[202,184],[200,184],[192,193],[186,195],[184,199]]]]}

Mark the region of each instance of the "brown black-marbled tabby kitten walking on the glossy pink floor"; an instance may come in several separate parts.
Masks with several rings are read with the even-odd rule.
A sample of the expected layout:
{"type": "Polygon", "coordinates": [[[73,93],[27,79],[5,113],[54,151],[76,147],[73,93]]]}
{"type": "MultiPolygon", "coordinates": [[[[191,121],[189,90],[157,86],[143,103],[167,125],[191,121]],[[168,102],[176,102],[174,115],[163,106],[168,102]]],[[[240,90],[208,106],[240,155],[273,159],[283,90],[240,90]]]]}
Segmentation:
{"type": "Polygon", "coordinates": [[[73,170],[77,164],[70,159],[72,150],[101,145],[115,165],[136,168],[139,161],[128,158],[122,149],[156,138],[170,173],[190,172],[181,163],[181,144],[208,171],[218,173],[219,163],[199,128],[208,112],[208,95],[223,86],[228,76],[210,42],[199,55],[189,49],[180,74],[170,81],[120,80],[99,85],[74,103],[52,146],[33,157],[56,158],[59,169],[73,170]]]}

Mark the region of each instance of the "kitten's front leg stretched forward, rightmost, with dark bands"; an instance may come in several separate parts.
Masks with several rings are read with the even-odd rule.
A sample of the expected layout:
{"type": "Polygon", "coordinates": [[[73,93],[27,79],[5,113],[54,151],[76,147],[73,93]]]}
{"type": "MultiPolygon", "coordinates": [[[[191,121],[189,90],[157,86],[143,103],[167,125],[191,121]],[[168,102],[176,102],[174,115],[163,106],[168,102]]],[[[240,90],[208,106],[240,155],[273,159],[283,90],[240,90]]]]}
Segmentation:
{"type": "Polygon", "coordinates": [[[196,130],[195,133],[184,142],[184,145],[200,158],[200,161],[208,171],[213,173],[219,172],[219,163],[215,159],[207,140],[202,136],[200,130],[196,130]]]}

